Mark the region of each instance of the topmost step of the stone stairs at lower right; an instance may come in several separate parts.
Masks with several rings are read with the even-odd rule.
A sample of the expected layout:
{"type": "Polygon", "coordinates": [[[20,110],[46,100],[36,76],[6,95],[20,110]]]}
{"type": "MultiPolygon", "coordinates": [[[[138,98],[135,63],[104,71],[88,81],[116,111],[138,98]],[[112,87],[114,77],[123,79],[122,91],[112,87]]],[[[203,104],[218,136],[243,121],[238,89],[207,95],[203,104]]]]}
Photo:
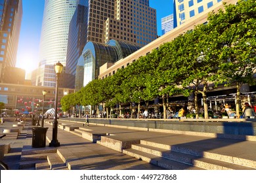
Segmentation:
{"type": "MultiPolygon", "coordinates": [[[[171,150],[172,152],[180,152],[183,154],[190,154],[192,156],[198,156],[201,158],[207,158],[223,161],[225,163],[230,163],[230,165],[238,165],[238,166],[230,166],[234,167],[234,169],[256,169],[256,161],[251,159],[237,158],[234,156],[229,156],[228,154],[216,154],[213,152],[203,151],[202,148],[198,148],[196,146],[181,146],[181,145],[169,145],[169,144],[161,144],[159,142],[150,142],[141,140],[140,144],[144,144],[147,146],[162,148],[164,150],[171,150]],[[240,166],[240,167],[239,167],[240,166]]],[[[199,163],[199,162],[198,162],[199,163]]]]}

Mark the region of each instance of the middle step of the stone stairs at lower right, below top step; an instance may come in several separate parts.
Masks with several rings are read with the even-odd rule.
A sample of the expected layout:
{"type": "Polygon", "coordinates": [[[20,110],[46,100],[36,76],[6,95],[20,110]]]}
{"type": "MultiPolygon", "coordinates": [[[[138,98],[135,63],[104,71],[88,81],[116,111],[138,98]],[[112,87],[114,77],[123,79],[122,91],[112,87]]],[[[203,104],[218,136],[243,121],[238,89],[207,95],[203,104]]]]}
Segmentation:
{"type": "Polygon", "coordinates": [[[144,144],[133,144],[132,148],[148,154],[154,154],[156,156],[161,156],[163,158],[171,159],[174,161],[179,161],[181,163],[186,163],[188,165],[200,167],[202,169],[208,170],[251,170],[251,167],[244,167],[241,165],[236,165],[234,163],[227,163],[224,161],[219,161],[215,159],[202,158],[199,156],[193,156],[190,154],[184,154],[181,152],[174,152],[170,150],[165,150],[162,148],[156,148],[153,146],[147,146],[144,144]]]}

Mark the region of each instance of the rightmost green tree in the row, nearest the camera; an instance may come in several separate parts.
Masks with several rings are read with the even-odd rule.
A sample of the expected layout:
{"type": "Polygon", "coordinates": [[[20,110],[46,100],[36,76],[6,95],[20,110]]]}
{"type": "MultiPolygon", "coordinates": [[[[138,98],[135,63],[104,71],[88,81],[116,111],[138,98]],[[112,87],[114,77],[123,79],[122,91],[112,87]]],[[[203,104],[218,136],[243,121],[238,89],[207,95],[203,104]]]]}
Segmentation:
{"type": "Polygon", "coordinates": [[[238,1],[238,5],[226,5],[225,10],[209,17],[211,27],[219,33],[219,71],[217,84],[236,83],[236,113],[240,110],[240,88],[252,84],[255,74],[256,3],[253,0],[238,1]]]}

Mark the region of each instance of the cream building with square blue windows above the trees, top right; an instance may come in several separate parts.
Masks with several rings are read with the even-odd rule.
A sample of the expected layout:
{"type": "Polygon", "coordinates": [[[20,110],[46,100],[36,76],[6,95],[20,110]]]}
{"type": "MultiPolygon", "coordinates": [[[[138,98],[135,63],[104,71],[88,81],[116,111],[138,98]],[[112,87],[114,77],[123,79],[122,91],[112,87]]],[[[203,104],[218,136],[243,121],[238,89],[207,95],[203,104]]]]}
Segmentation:
{"type": "Polygon", "coordinates": [[[222,3],[222,0],[174,0],[175,27],[217,3],[222,3]]]}

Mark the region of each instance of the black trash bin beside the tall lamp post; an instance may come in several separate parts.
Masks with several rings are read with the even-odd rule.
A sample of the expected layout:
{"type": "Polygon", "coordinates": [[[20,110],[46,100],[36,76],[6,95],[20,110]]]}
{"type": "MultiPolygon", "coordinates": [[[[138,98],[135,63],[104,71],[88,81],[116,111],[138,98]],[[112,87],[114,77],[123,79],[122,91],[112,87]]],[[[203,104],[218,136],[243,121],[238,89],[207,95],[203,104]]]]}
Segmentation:
{"type": "Polygon", "coordinates": [[[46,133],[48,127],[32,128],[32,148],[44,148],[46,143],[46,133]]]}

